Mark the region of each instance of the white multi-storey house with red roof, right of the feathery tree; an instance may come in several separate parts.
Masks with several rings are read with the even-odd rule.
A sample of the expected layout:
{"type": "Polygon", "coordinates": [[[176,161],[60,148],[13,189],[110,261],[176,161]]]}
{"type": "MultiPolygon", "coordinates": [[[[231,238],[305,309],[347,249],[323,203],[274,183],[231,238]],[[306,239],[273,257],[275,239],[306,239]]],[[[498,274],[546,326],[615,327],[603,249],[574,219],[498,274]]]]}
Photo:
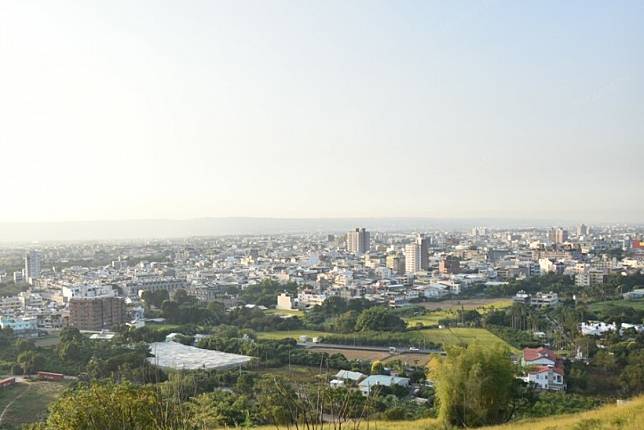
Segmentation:
{"type": "Polygon", "coordinates": [[[564,391],[563,361],[550,349],[525,348],[521,365],[526,369],[523,378],[528,383],[533,383],[542,390],[564,391]]]}

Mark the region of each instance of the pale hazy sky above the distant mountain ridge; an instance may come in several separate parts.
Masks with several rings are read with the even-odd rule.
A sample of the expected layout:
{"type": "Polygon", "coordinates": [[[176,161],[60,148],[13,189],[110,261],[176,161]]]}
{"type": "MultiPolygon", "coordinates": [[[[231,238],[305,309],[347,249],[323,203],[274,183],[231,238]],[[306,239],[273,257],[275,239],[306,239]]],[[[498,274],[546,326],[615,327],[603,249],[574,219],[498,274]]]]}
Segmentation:
{"type": "Polygon", "coordinates": [[[644,2],[0,2],[0,221],[644,221],[644,2]]]}

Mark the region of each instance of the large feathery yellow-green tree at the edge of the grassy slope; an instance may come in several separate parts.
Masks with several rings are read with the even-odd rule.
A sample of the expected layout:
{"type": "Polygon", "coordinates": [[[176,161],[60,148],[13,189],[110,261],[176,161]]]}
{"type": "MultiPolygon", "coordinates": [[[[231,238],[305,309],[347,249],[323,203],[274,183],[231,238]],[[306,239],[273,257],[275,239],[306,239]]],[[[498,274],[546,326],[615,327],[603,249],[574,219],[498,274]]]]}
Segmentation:
{"type": "Polygon", "coordinates": [[[519,402],[523,383],[515,378],[510,352],[504,347],[452,347],[447,357],[430,362],[436,384],[439,418],[446,425],[476,427],[508,421],[519,402]]]}

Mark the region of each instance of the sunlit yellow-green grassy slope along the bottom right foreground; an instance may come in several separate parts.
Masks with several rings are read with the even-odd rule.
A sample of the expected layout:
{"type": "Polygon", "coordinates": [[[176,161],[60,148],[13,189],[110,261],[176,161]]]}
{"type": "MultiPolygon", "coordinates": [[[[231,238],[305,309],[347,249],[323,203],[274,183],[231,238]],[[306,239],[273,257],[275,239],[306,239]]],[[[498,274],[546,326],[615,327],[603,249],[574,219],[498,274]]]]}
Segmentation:
{"type": "MultiPolygon", "coordinates": [[[[352,425],[343,428],[354,429],[352,425]]],[[[286,427],[280,427],[286,428],[286,427]]],[[[326,426],[325,426],[326,428],[326,426]]],[[[329,428],[332,428],[329,426],[329,428]]],[[[258,430],[275,430],[275,426],[258,427],[258,430]]],[[[439,430],[444,429],[435,419],[418,421],[378,421],[362,423],[357,430],[439,430]]],[[[641,430],[644,429],[644,396],[623,405],[603,406],[578,414],[557,415],[535,420],[482,427],[481,430],[641,430]]]]}

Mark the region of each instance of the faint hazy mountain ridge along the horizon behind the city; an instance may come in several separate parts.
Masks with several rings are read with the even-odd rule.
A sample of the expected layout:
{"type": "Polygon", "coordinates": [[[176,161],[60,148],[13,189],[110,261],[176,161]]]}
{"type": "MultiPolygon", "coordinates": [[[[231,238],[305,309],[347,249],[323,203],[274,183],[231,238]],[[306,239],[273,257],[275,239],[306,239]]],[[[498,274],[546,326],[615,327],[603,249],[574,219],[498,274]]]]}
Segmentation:
{"type": "Polygon", "coordinates": [[[474,226],[547,227],[572,225],[555,220],[441,218],[195,218],[0,223],[0,242],[154,239],[278,233],[343,232],[354,227],[375,231],[465,230],[474,226]]]}

